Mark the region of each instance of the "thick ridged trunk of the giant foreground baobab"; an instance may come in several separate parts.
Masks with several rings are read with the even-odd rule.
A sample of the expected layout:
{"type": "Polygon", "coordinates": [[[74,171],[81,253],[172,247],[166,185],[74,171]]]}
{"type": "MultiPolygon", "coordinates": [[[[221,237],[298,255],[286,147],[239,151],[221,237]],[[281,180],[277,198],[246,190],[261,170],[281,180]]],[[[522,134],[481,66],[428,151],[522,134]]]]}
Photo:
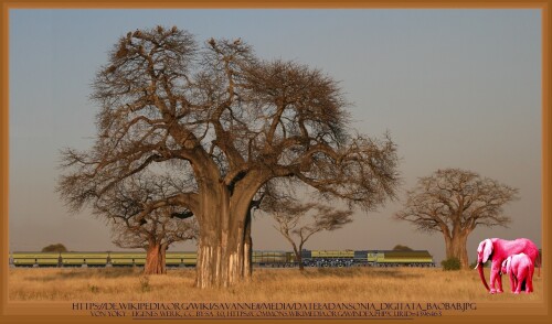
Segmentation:
{"type": "Polygon", "coordinates": [[[258,176],[233,187],[204,179],[198,215],[198,288],[231,287],[251,276],[251,202],[262,184],[258,176]]]}

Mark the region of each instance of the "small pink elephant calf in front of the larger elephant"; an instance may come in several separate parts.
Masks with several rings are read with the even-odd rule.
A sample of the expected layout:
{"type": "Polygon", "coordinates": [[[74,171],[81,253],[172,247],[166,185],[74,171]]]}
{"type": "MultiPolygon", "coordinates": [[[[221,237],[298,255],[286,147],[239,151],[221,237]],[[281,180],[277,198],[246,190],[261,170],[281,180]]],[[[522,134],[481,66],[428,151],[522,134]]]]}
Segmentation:
{"type": "Polygon", "coordinates": [[[526,253],[508,257],[502,262],[502,273],[510,274],[510,287],[513,293],[520,293],[523,282],[526,292],[533,291],[534,264],[526,253]]]}

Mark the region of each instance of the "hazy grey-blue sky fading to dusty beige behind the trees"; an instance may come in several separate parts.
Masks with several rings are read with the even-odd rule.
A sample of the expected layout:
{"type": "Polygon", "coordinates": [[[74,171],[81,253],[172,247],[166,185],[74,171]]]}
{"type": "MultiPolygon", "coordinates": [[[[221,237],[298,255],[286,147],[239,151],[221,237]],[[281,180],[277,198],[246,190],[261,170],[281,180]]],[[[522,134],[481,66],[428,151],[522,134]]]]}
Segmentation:
{"type": "MultiPolygon", "coordinates": [[[[361,133],[389,130],[399,145],[401,199],[319,234],[310,249],[391,249],[444,257],[440,234],[392,219],[404,191],[437,169],[479,172],[520,190],[510,228],[487,237],[541,245],[541,15],[539,10],[10,10],[10,250],[63,242],[116,250],[105,223],[70,214],[54,192],[60,150],[87,149],[98,107],[95,72],[117,39],[158,24],[199,42],[250,43],[259,57],[295,60],[341,82],[361,133]]],[[[253,224],[255,249],[290,249],[267,217],[253,224]]],[[[189,249],[191,246],[179,247],[189,249]]]]}

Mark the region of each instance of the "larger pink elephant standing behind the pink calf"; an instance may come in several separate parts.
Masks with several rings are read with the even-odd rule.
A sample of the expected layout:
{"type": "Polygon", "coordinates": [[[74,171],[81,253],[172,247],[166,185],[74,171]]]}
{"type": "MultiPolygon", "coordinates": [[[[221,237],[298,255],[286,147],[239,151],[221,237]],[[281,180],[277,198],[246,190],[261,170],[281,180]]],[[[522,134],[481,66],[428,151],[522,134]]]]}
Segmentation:
{"type": "Polygon", "coordinates": [[[479,244],[477,248],[476,269],[479,270],[479,277],[485,288],[490,293],[502,292],[502,278],[500,276],[502,261],[509,256],[518,253],[526,253],[529,259],[531,259],[532,263],[537,264],[539,249],[530,239],[518,238],[514,240],[506,240],[500,238],[488,238],[479,244]],[[490,289],[485,280],[482,266],[489,259],[492,261],[490,268],[490,289]],[[495,288],[495,282],[497,283],[497,288],[495,288]]]}

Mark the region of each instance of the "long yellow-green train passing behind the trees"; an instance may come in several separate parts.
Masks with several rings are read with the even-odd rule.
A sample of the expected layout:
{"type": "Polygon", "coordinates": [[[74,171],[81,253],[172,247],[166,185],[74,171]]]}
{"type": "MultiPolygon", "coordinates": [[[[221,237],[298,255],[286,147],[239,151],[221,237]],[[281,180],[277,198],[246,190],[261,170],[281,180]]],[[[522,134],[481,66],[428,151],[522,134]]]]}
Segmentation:
{"type": "MultiPolygon", "coordinates": [[[[197,252],[167,251],[168,268],[195,267],[197,252]]],[[[305,267],[435,267],[427,250],[302,250],[305,267]]],[[[146,252],[13,252],[12,267],[144,267],[146,252]]],[[[257,250],[252,253],[252,263],[261,268],[298,267],[291,251],[257,250]]]]}

